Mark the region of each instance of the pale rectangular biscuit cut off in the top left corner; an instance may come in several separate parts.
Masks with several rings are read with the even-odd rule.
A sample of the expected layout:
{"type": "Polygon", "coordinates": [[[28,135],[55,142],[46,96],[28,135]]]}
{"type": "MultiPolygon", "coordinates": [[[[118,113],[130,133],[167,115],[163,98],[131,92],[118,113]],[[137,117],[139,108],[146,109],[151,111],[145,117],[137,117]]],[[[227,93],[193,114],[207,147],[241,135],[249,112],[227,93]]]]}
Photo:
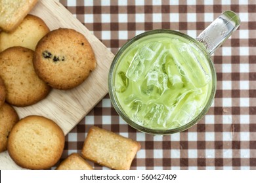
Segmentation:
{"type": "Polygon", "coordinates": [[[32,10],[37,0],[0,1],[0,29],[4,31],[14,30],[24,17],[32,10]]]}

